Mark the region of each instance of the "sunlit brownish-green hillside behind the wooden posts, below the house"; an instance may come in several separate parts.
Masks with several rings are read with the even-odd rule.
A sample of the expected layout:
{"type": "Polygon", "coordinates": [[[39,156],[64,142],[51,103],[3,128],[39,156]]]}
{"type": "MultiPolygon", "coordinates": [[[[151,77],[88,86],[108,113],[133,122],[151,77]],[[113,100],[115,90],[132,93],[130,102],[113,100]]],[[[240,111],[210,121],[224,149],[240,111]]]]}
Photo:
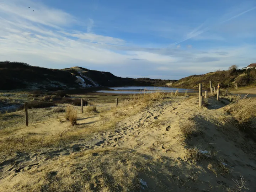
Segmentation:
{"type": "Polygon", "coordinates": [[[218,84],[221,87],[243,87],[248,85],[256,85],[256,69],[248,70],[228,70],[228,71],[216,71],[210,72],[203,75],[191,75],[182,78],[176,82],[170,82],[166,85],[172,87],[185,87],[185,88],[196,88],[199,83],[203,84],[203,87],[209,87],[209,81],[212,81],[213,86],[218,84]]]}

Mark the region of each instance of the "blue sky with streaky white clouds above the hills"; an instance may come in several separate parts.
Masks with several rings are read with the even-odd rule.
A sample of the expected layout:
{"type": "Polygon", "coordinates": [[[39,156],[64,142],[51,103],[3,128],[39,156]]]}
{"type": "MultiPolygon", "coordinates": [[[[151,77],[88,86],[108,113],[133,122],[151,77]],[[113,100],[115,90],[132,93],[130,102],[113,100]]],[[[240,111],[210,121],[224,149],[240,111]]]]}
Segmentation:
{"type": "Polygon", "coordinates": [[[0,61],[177,80],[255,63],[255,19],[255,0],[0,0],[0,61]]]}

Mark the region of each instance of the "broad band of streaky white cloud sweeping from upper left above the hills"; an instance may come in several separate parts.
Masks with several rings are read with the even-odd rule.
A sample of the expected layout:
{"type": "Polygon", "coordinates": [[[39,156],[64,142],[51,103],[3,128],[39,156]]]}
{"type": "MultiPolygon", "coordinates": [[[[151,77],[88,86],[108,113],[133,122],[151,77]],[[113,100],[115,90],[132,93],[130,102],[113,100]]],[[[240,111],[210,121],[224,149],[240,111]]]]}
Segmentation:
{"type": "MultiPolygon", "coordinates": [[[[81,65],[90,66],[91,69],[100,66],[97,69],[101,70],[107,66],[108,69],[117,70],[115,75],[126,73],[126,76],[177,79],[191,73],[226,69],[230,64],[246,66],[256,59],[253,57],[255,47],[246,44],[238,48],[219,49],[196,49],[196,46],[186,49],[180,44],[172,48],[158,48],[153,43],[138,46],[121,38],[93,33],[96,20],[92,18],[81,24],[64,11],[34,2],[12,0],[0,4],[0,60],[57,68],[81,65]],[[27,5],[35,11],[27,8],[27,5]],[[68,30],[70,26],[80,24],[87,27],[85,32],[68,30]],[[148,74],[142,75],[144,72],[148,74]],[[175,78],[167,78],[171,75],[175,78]]],[[[194,36],[202,28],[199,26],[188,37],[194,36]]],[[[187,45],[187,48],[191,47],[187,45]]]]}

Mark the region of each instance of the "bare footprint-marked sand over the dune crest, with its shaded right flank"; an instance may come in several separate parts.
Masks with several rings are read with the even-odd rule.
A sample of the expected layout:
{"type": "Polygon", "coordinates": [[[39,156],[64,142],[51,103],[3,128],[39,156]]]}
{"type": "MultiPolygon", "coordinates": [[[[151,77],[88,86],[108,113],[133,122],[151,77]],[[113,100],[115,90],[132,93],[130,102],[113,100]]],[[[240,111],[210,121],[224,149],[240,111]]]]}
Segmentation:
{"type": "MultiPolygon", "coordinates": [[[[148,168],[148,170],[155,170],[150,172],[150,175],[139,174],[148,183],[145,191],[163,191],[163,189],[164,191],[226,191],[228,187],[235,186],[233,180],[240,181],[240,175],[245,178],[250,190],[255,191],[255,143],[250,138],[246,138],[244,133],[236,127],[226,126],[221,120],[225,112],[220,107],[223,107],[225,100],[216,101],[215,98],[209,98],[207,102],[210,103],[208,108],[198,107],[198,98],[177,97],[173,100],[156,102],[153,106],[146,107],[143,112],[124,116],[123,120],[117,124],[116,130],[95,134],[92,137],[94,140],[89,143],[78,143],[70,148],[45,151],[45,154],[51,155],[51,159],[44,154],[31,154],[25,165],[20,166],[21,171],[17,172],[19,166],[10,165],[10,162],[4,162],[6,165],[1,163],[1,167],[9,166],[9,169],[4,169],[9,172],[7,174],[9,178],[7,179],[6,174],[1,174],[0,187],[2,191],[6,191],[6,186],[14,185],[16,178],[22,178],[22,182],[26,183],[28,182],[26,179],[29,178],[27,174],[38,174],[40,170],[48,169],[56,162],[62,162],[61,159],[66,158],[65,155],[80,154],[83,153],[81,151],[92,149],[93,151],[125,149],[135,152],[134,159],[139,153],[146,156],[147,164],[158,162],[157,166],[154,164],[154,166],[151,165],[153,167],[148,168]],[[180,125],[190,119],[193,119],[198,127],[193,131],[192,137],[185,140],[181,134],[180,125]],[[190,148],[192,147],[208,151],[209,155],[201,154],[201,159],[191,160],[190,148]],[[41,164],[34,166],[29,165],[29,162],[41,164]],[[26,169],[29,171],[24,167],[28,167],[26,169]],[[38,167],[40,170],[37,169],[38,167]],[[162,177],[164,172],[166,172],[165,177],[170,177],[170,180],[162,177]],[[168,176],[170,173],[171,175],[168,176]]],[[[128,107],[127,111],[134,108],[136,105],[128,107]]],[[[123,111],[126,112],[126,110],[123,111]]],[[[93,154],[96,159],[107,158],[107,155],[93,154]]],[[[118,163],[112,161],[115,159],[111,159],[112,164],[118,163]]],[[[82,162],[84,160],[80,160],[81,164],[82,162]]],[[[59,166],[55,168],[59,169],[59,166]]]]}

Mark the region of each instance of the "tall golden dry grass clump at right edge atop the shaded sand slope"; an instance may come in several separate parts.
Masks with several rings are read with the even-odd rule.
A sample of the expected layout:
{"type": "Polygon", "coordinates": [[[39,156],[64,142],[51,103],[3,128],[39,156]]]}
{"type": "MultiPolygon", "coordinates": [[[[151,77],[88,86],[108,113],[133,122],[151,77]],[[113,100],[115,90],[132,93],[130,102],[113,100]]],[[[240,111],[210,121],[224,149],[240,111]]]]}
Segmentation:
{"type": "Polygon", "coordinates": [[[237,127],[254,127],[256,121],[256,100],[251,97],[241,98],[239,95],[229,105],[223,108],[230,115],[223,118],[225,122],[235,122],[237,127]]]}

